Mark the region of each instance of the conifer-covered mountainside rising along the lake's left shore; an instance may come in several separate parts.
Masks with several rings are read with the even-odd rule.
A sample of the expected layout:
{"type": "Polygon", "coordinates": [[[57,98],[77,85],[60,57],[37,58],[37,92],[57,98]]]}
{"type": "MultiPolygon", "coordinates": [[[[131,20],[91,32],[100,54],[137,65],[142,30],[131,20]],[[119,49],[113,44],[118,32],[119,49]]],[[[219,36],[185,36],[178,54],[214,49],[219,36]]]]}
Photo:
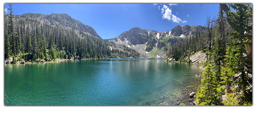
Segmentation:
{"type": "Polygon", "coordinates": [[[5,58],[13,63],[57,59],[140,57],[136,51],[109,44],[95,30],[67,14],[5,15],[5,58]]]}

